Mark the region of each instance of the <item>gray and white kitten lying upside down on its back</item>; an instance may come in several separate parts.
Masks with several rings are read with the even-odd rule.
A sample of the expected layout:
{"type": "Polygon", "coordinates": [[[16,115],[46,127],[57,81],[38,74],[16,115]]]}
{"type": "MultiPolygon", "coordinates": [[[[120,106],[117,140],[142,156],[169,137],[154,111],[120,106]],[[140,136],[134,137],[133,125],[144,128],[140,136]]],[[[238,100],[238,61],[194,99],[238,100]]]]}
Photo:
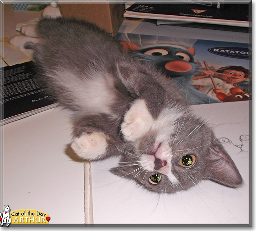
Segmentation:
{"type": "Polygon", "coordinates": [[[186,95],[154,67],[134,60],[112,36],[84,21],[43,19],[38,32],[37,77],[73,111],[71,147],[78,156],[121,156],[111,172],[157,193],[204,179],[242,184],[213,131],[189,110],[186,95]]]}

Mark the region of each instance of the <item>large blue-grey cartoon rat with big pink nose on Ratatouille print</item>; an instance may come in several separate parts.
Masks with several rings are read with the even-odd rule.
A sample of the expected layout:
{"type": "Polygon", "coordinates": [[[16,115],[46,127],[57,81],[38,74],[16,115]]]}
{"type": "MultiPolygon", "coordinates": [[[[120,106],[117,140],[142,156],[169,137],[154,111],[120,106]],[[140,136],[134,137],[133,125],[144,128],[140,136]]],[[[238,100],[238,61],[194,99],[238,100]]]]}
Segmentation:
{"type": "Polygon", "coordinates": [[[139,48],[130,42],[121,43],[126,50],[131,51],[132,56],[142,62],[152,63],[166,75],[167,79],[176,83],[181,91],[186,92],[190,104],[220,102],[191,86],[192,76],[199,70],[199,65],[193,58],[195,53],[193,47],[185,50],[178,45],[155,44],[139,48]]]}

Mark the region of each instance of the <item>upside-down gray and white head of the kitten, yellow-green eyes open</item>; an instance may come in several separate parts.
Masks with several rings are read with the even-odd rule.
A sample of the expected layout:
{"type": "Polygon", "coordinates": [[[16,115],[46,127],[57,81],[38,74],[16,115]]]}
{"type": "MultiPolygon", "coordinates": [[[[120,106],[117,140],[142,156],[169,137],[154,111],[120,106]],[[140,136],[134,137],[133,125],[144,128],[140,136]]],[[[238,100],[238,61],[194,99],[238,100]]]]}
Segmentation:
{"type": "Polygon", "coordinates": [[[210,127],[190,113],[174,114],[163,111],[160,117],[169,116],[168,123],[154,124],[111,172],[156,193],[186,190],[205,179],[241,185],[239,171],[210,127]]]}

